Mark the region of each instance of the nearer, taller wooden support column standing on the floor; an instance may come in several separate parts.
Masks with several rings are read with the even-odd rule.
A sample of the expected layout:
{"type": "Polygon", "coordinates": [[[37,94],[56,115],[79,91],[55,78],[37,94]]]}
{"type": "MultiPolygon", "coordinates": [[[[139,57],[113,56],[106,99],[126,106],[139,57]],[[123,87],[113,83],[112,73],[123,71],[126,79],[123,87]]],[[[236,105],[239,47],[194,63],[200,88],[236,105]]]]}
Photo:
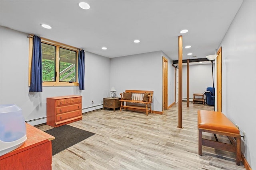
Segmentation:
{"type": "Polygon", "coordinates": [[[178,100],[178,128],[182,128],[182,36],[178,38],[179,54],[179,100],[178,100]]]}

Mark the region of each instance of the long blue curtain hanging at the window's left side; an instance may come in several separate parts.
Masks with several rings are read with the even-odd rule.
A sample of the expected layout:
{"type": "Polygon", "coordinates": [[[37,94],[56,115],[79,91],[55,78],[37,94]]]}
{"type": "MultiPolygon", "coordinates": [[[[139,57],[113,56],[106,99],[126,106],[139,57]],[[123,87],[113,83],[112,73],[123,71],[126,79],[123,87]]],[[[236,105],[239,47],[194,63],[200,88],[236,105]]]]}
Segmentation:
{"type": "Polygon", "coordinates": [[[31,64],[30,92],[42,92],[42,50],[41,38],[34,35],[31,64]]]}

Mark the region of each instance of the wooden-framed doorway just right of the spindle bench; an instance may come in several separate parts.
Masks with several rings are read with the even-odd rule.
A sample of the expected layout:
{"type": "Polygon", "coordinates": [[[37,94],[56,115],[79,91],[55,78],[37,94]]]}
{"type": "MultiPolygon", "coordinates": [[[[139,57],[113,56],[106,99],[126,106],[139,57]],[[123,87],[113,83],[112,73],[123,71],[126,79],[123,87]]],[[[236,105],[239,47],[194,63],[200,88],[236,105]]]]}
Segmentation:
{"type": "Polygon", "coordinates": [[[168,109],[168,60],[163,56],[163,110],[168,109]]]}

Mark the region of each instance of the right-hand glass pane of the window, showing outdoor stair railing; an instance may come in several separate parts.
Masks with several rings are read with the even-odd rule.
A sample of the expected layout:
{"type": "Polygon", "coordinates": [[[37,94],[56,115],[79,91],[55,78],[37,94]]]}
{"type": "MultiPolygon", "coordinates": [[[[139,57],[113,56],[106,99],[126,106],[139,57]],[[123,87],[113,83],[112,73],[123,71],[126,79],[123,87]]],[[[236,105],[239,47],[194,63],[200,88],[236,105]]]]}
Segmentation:
{"type": "Polygon", "coordinates": [[[60,48],[60,82],[76,82],[76,51],[60,48]]]}

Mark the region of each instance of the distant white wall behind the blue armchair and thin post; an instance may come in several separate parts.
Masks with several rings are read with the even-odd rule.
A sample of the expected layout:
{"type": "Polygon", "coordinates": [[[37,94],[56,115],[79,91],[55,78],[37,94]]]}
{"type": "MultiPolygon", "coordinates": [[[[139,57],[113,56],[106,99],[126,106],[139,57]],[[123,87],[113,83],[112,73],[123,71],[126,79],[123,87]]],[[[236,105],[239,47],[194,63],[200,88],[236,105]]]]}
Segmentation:
{"type": "MultiPolygon", "coordinates": [[[[213,71],[215,71],[213,63],[213,71]]],[[[215,81],[215,74],[214,74],[215,81]]],[[[202,93],[207,87],[212,87],[212,63],[189,65],[189,98],[193,99],[193,93],[202,93]]],[[[216,84],[214,84],[216,87],[216,84]]],[[[187,65],[182,66],[182,98],[187,100],[187,65]]]]}

